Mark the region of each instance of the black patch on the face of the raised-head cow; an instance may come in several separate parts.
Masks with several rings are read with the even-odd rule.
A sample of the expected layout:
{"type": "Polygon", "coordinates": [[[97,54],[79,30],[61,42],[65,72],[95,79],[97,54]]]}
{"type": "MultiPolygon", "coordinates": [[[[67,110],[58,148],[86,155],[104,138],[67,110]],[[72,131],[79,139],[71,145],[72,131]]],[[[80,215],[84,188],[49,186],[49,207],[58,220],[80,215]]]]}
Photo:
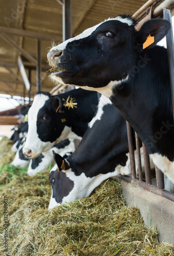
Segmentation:
{"type": "Polygon", "coordinates": [[[122,73],[135,61],[132,44],[135,33],[134,26],[119,20],[104,22],[90,36],[67,44],[57,66],[63,63],[69,73],[55,74],[65,84],[93,88],[104,87],[110,81],[125,78],[122,73]]]}

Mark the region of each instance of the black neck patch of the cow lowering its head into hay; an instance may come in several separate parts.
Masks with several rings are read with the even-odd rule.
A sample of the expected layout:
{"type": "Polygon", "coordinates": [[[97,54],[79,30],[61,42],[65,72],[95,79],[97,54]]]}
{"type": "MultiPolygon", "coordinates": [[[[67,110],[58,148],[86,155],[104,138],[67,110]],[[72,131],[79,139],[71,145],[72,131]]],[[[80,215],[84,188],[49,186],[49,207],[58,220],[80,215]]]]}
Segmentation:
{"type": "Polygon", "coordinates": [[[101,120],[96,120],[85,133],[76,151],[67,158],[72,172],[86,177],[114,172],[128,157],[126,121],[115,106],[104,106],[101,120]]]}

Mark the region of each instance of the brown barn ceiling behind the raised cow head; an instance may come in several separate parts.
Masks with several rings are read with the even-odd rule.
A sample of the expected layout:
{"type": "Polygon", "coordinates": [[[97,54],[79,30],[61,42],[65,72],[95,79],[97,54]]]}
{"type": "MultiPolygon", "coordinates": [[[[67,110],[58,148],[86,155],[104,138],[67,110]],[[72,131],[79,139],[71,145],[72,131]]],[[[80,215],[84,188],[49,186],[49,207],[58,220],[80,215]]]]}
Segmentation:
{"type": "MultiPolygon", "coordinates": [[[[36,92],[37,40],[41,44],[42,90],[55,86],[49,78],[46,53],[62,40],[61,0],[0,0],[0,93],[28,96],[17,65],[21,56],[31,95],[36,92]]],[[[81,33],[108,17],[133,14],[145,0],[72,0],[72,35],[81,33]]]]}

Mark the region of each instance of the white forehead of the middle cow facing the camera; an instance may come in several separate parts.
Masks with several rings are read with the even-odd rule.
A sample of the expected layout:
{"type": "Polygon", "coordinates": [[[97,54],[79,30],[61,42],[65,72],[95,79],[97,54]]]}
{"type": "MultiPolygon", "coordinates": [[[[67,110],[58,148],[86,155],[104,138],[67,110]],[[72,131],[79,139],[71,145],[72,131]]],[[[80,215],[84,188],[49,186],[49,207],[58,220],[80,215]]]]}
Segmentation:
{"type": "Polygon", "coordinates": [[[44,106],[45,101],[48,99],[49,99],[49,97],[44,94],[37,94],[34,97],[33,104],[31,106],[31,108],[29,109],[29,115],[28,115],[29,121],[31,118],[32,118],[32,120],[34,120],[34,118],[37,119],[37,114],[38,114],[39,110],[44,106]]]}

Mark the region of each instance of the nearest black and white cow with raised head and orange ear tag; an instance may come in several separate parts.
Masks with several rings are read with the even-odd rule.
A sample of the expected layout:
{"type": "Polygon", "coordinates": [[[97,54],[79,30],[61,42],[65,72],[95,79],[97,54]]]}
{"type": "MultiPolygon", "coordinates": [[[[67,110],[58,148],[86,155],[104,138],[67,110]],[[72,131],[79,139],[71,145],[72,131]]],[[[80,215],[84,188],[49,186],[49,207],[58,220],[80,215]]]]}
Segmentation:
{"type": "Polygon", "coordinates": [[[57,69],[52,73],[57,81],[109,97],[145,143],[154,163],[174,182],[167,50],[156,46],[169,28],[166,20],[154,19],[136,31],[130,16],[119,15],[53,47],[47,57],[57,69]],[[155,42],[144,48],[149,35],[155,42]]]}

